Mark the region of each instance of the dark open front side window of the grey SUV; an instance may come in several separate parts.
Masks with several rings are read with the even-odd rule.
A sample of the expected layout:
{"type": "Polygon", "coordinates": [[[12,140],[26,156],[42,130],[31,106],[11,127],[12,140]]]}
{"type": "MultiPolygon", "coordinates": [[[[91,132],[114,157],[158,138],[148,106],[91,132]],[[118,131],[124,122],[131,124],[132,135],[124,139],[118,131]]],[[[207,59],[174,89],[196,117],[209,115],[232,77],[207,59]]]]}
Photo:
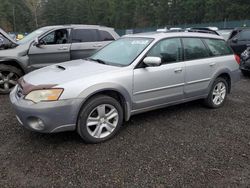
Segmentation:
{"type": "Polygon", "coordinates": [[[53,31],[40,39],[40,43],[43,45],[66,44],[68,42],[68,31],[66,29],[53,31]]]}

